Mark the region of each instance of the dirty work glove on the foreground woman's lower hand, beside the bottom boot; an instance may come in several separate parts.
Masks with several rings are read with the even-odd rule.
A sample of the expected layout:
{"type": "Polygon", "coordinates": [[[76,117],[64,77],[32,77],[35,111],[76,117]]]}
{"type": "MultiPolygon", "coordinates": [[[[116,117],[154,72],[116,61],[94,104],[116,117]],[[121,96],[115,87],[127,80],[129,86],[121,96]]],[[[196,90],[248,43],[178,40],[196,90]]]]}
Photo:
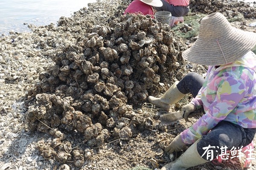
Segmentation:
{"type": "Polygon", "coordinates": [[[186,144],[184,144],[181,140],[180,134],[173,139],[171,144],[169,144],[164,150],[169,154],[175,152],[179,152],[185,148],[186,144]]]}

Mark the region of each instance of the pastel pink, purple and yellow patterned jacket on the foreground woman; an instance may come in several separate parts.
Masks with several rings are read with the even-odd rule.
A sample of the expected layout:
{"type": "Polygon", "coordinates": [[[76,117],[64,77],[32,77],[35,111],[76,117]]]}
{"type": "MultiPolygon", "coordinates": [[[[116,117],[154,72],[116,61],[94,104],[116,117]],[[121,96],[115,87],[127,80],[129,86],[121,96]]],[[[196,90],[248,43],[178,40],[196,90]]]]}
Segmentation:
{"type": "Polygon", "coordinates": [[[222,120],[244,128],[256,128],[256,55],[249,51],[236,62],[209,66],[206,80],[192,99],[205,114],[181,133],[185,144],[192,144],[222,120]]]}

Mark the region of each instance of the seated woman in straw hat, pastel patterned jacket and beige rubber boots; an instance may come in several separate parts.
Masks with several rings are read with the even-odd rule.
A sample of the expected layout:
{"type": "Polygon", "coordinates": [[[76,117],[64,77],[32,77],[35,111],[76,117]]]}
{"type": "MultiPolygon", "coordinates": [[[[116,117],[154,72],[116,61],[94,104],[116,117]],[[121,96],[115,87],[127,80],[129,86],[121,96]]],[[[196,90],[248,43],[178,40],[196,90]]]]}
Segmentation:
{"type": "Polygon", "coordinates": [[[250,49],[255,45],[255,33],[232,27],[221,13],[201,20],[198,39],[182,56],[209,65],[205,80],[188,74],[162,97],[148,97],[152,104],[169,110],[190,92],[194,98],[182,108],[185,120],[200,108],[205,112],[165,148],[173,153],[192,144],[162,170],[186,170],[252,142],[256,133],[256,55],[250,49]]]}

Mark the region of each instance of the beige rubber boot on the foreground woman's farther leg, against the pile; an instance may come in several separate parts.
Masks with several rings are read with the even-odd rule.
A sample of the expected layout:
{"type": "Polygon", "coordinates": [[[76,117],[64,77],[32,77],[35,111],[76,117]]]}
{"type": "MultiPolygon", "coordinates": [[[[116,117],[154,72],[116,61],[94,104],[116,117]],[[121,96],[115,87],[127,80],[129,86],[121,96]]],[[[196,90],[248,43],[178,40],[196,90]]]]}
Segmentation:
{"type": "Polygon", "coordinates": [[[150,102],[153,105],[158,106],[159,108],[162,108],[163,110],[169,111],[171,108],[171,105],[177,103],[182,99],[186,94],[181,93],[177,89],[177,84],[179,81],[176,81],[172,87],[166,91],[166,93],[162,97],[153,97],[153,96],[148,96],[148,102],[150,102]]]}

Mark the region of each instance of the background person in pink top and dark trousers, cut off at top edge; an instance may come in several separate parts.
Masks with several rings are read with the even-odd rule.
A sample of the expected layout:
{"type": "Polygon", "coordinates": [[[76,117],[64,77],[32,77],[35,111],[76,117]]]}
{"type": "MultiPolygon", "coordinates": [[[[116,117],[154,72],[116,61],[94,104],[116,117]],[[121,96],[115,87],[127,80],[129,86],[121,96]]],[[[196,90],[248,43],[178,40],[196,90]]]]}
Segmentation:
{"type": "Polygon", "coordinates": [[[163,6],[154,7],[156,11],[169,11],[173,17],[183,17],[189,13],[189,0],[161,0],[163,6]]]}

